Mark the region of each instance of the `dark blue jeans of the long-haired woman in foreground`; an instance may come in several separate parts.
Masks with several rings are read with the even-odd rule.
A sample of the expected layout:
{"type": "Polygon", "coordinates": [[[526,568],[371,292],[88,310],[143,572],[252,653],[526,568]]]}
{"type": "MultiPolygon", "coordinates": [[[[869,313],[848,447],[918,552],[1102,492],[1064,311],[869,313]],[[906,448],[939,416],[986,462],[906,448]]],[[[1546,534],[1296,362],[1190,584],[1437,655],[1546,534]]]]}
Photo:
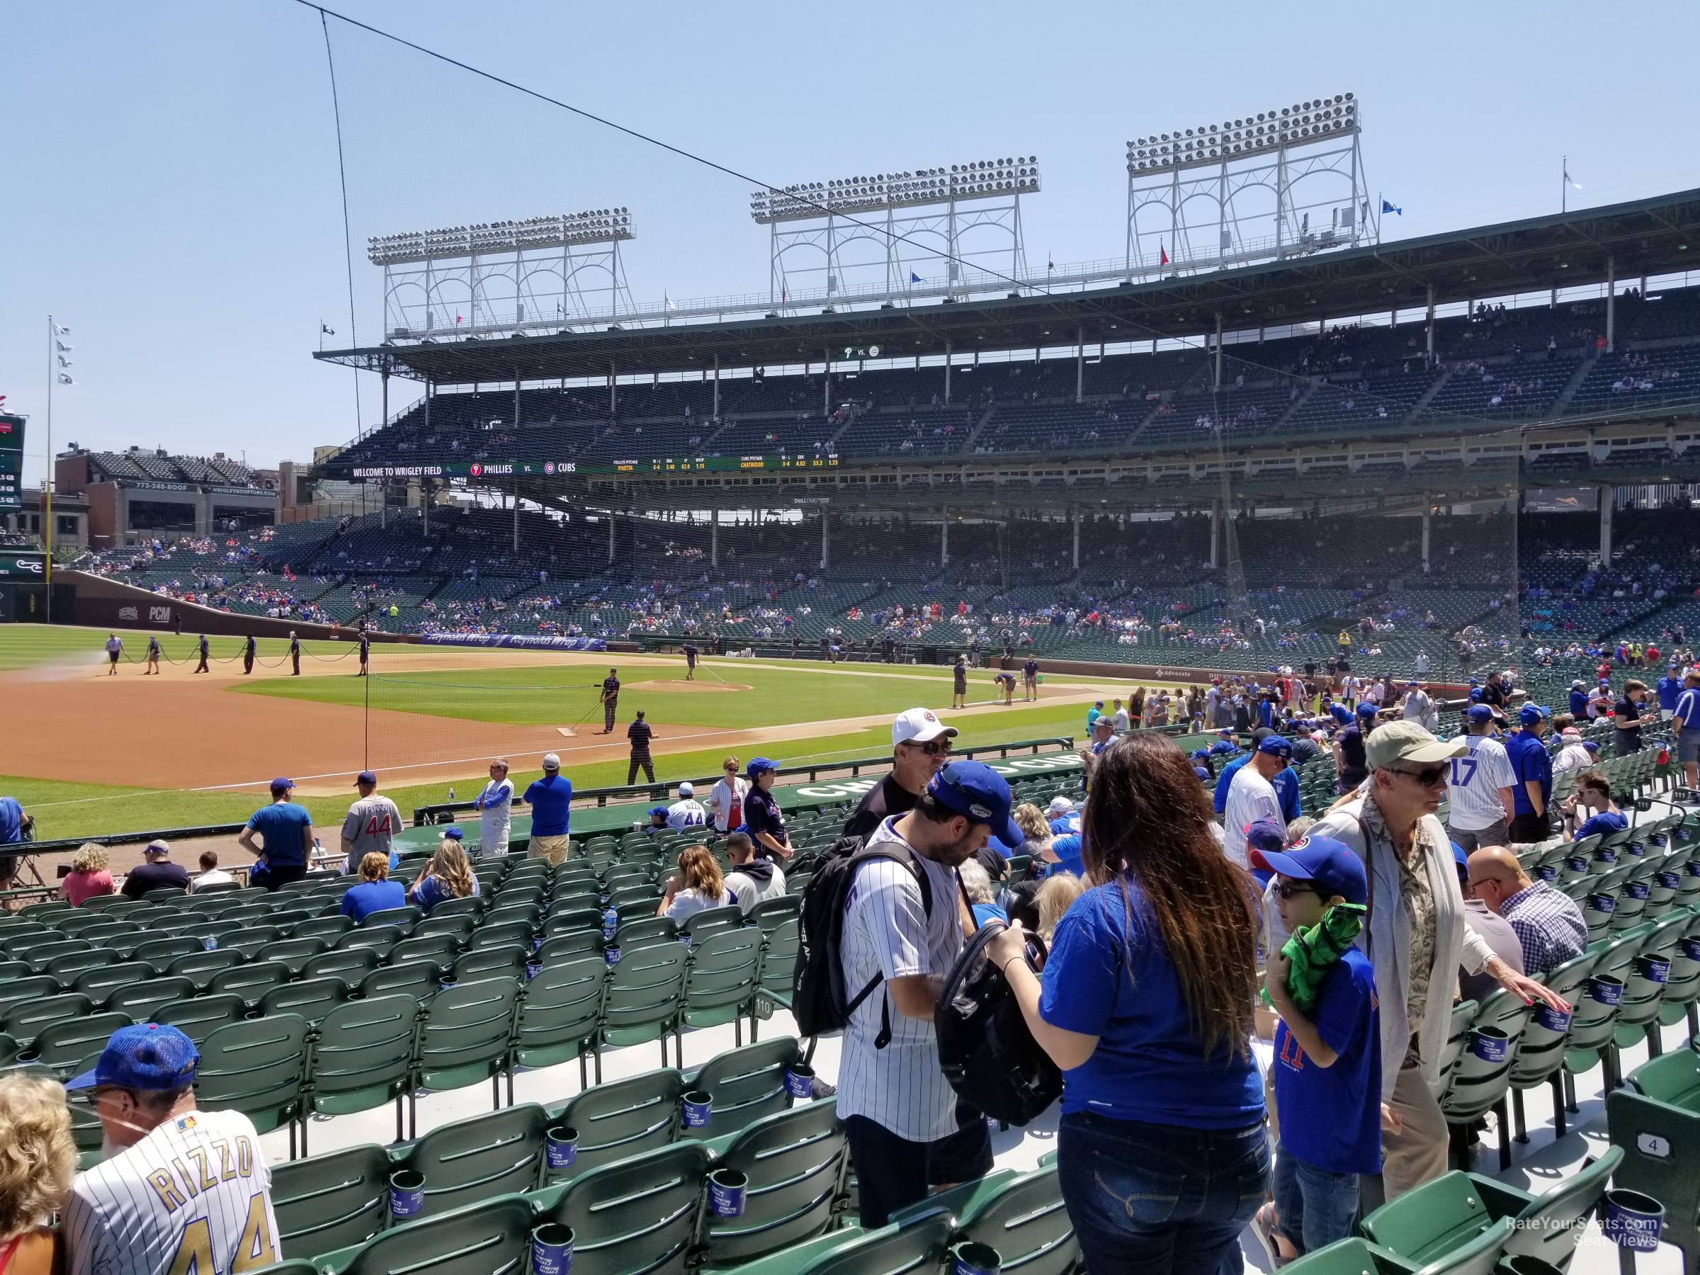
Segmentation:
{"type": "Polygon", "coordinates": [[[1239,1232],[1270,1182],[1268,1136],[1071,1112],[1057,1180],[1086,1270],[1216,1275],[1238,1268],[1239,1232]]]}

